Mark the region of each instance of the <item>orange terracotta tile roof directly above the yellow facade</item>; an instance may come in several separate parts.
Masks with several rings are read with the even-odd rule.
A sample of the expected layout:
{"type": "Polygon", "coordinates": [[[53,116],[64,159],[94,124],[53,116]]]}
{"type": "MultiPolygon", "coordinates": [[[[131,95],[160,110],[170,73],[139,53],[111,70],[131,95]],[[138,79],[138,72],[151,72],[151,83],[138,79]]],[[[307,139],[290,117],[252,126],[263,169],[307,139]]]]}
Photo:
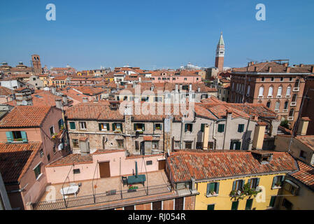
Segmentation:
{"type": "Polygon", "coordinates": [[[167,158],[174,181],[226,178],[241,175],[256,175],[272,172],[293,172],[296,162],[288,153],[273,152],[268,164],[261,164],[247,151],[171,153],[167,158]]]}

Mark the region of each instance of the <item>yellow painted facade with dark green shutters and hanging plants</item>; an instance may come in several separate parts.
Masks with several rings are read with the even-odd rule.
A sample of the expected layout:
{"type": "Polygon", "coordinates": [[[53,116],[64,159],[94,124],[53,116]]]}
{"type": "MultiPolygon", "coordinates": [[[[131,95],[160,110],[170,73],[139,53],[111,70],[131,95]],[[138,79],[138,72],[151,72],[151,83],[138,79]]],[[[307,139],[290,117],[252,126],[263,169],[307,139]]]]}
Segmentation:
{"type": "Polygon", "coordinates": [[[248,183],[248,180],[253,179],[253,178],[260,179],[259,186],[262,188],[262,193],[259,193],[259,195],[257,195],[257,197],[260,200],[259,202],[257,202],[258,200],[257,197],[247,196],[243,200],[239,200],[238,210],[245,210],[245,204],[249,198],[253,199],[252,209],[255,209],[255,210],[269,209],[271,196],[278,195],[278,190],[280,189],[280,188],[271,188],[273,184],[273,178],[275,176],[285,176],[285,173],[262,175],[262,176],[247,176],[243,178],[224,179],[224,180],[217,180],[217,181],[197,182],[196,188],[197,188],[197,191],[199,192],[199,195],[196,196],[195,209],[207,210],[209,204],[215,204],[214,210],[231,210],[232,202],[234,202],[235,199],[232,199],[229,196],[229,194],[232,190],[234,181],[245,180],[245,183],[248,183]],[[207,183],[213,183],[213,182],[219,182],[218,195],[208,197],[206,196],[207,183]],[[262,197],[263,194],[265,195],[264,200],[262,197]]]}

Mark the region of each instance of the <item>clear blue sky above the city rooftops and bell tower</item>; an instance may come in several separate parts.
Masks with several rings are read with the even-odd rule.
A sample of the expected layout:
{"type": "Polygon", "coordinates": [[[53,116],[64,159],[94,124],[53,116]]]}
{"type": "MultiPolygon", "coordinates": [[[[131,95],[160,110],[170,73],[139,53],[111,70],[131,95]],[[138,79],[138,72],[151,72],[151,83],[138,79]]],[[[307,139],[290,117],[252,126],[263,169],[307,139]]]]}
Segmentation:
{"type": "Polygon", "coordinates": [[[224,66],[245,66],[248,58],[314,64],[313,8],[313,0],[6,1],[0,61],[29,65],[36,53],[48,67],[214,66],[223,31],[224,66]],[[56,21],[45,20],[48,3],[56,21]],[[266,21],[255,20],[257,3],[266,6],[266,21]]]}

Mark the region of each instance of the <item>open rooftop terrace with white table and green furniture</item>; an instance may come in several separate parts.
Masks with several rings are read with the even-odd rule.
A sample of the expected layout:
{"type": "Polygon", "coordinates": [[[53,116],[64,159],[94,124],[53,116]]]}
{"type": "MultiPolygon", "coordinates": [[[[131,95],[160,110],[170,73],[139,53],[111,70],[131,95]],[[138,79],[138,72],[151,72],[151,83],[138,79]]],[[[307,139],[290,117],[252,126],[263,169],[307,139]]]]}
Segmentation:
{"type": "MultiPolygon", "coordinates": [[[[71,182],[73,183],[73,182],[71,182]]],[[[64,188],[70,183],[65,183],[64,188]]],[[[101,206],[113,207],[114,203],[117,207],[123,207],[125,203],[129,203],[134,199],[134,204],[139,200],[145,200],[145,197],[151,199],[155,197],[172,195],[173,190],[163,170],[158,172],[150,172],[147,174],[147,181],[144,186],[142,184],[134,184],[131,187],[123,186],[121,176],[114,176],[103,179],[94,179],[89,181],[76,181],[80,186],[76,195],[67,195],[63,198],[60,190],[63,184],[55,184],[49,186],[50,191],[55,192],[55,200],[46,200],[49,197],[46,192],[39,202],[33,204],[34,210],[58,210],[69,209],[84,206],[101,206]],[[127,200],[124,202],[123,200],[127,200]],[[113,203],[114,202],[114,203],[113,203]]]]}

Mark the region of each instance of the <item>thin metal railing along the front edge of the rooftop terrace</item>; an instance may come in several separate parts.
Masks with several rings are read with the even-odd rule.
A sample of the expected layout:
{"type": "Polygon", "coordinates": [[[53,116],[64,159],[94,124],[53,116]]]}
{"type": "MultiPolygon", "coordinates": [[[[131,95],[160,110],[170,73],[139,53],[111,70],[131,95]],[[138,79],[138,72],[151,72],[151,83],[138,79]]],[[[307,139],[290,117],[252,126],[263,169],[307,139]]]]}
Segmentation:
{"type": "Polygon", "coordinates": [[[111,190],[106,193],[95,195],[85,195],[79,197],[68,197],[54,201],[36,202],[33,204],[34,210],[57,210],[73,207],[82,207],[90,204],[100,204],[105,202],[115,202],[148,195],[158,195],[170,193],[171,186],[168,184],[143,187],[129,190],[111,190]]]}

